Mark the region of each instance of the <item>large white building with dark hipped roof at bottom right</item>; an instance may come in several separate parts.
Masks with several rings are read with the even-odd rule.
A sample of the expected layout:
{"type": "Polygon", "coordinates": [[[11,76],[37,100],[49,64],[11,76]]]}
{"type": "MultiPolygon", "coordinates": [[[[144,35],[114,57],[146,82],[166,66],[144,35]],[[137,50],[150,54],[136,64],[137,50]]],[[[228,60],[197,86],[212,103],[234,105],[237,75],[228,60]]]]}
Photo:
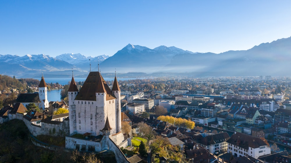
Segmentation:
{"type": "Polygon", "coordinates": [[[228,143],[227,153],[231,151],[234,157],[249,155],[258,158],[271,154],[271,148],[263,140],[251,135],[235,132],[226,142],[228,143]]]}

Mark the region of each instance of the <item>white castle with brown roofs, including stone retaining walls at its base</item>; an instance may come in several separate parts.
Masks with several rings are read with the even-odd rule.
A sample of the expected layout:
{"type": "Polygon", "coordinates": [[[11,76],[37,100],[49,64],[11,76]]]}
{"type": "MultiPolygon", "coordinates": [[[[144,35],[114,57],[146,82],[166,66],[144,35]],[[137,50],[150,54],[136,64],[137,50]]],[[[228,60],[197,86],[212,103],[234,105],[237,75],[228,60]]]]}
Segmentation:
{"type": "Polygon", "coordinates": [[[72,77],[69,95],[70,136],[66,148],[79,151],[113,151],[125,159],[119,147],[128,145],[121,133],[120,88],[115,77],[109,88],[100,72],[90,72],[78,90],[72,77]],[[76,135],[83,135],[77,137],[76,135]]]}

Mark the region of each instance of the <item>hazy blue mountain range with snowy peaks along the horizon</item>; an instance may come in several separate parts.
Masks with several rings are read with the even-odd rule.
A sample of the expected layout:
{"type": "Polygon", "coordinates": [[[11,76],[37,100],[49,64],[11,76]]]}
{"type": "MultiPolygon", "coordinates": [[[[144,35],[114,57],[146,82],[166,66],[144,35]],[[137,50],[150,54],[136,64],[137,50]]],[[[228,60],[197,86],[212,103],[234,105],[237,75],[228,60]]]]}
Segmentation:
{"type": "MultiPolygon", "coordinates": [[[[192,76],[290,76],[291,37],[262,43],[249,50],[227,51],[219,54],[191,52],[174,46],[154,49],[128,44],[113,56],[86,57],[62,54],[0,55],[0,74],[16,77],[39,77],[43,72],[50,77],[70,77],[92,71],[102,73],[143,72],[155,74],[191,74],[192,76]],[[89,60],[90,59],[90,60],[89,60]]],[[[145,75],[145,74],[143,74],[145,75]]]]}

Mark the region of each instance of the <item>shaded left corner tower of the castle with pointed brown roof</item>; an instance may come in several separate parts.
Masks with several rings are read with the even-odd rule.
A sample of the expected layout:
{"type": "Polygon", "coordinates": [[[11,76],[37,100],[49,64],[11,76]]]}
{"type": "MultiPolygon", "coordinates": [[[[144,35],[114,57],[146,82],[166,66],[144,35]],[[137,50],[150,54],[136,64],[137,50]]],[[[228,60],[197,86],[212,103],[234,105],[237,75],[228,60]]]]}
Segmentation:
{"type": "Polygon", "coordinates": [[[76,129],[76,107],[74,104],[74,99],[78,95],[78,88],[74,79],[74,75],[72,77],[70,87],[68,90],[68,95],[69,95],[69,119],[74,119],[73,121],[70,122],[70,133],[74,133],[77,131],[76,129]]]}

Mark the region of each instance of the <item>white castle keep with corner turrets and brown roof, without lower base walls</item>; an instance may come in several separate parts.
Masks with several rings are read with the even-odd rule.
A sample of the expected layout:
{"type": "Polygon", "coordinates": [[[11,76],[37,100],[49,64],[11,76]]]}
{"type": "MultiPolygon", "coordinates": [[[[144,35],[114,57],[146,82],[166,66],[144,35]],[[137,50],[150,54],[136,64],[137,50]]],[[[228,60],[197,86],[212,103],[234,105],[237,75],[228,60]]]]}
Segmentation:
{"type": "MultiPolygon", "coordinates": [[[[119,134],[121,131],[120,88],[116,77],[110,90],[100,72],[90,72],[79,92],[72,78],[68,93],[70,134],[103,135],[105,124],[110,124],[109,135],[115,137],[122,135],[119,134]]],[[[118,139],[115,138],[114,142],[120,142],[118,139]]]]}

